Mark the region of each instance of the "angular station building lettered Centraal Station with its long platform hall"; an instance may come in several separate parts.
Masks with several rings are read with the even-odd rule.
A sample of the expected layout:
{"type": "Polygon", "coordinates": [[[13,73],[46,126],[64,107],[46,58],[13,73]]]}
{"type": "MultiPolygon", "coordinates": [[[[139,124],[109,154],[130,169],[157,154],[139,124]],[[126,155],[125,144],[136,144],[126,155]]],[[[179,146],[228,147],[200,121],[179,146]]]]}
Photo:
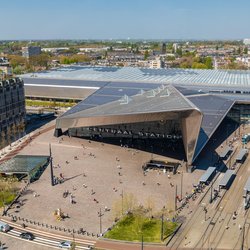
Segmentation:
{"type": "Polygon", "coordinates": [[[76,65],[23,79],[30,98],[81,100],[57,118],[55,136],[68,131],[163,151],[180,142],[189,165],[225,117],[250,115],[250,71],[76,65]]]}

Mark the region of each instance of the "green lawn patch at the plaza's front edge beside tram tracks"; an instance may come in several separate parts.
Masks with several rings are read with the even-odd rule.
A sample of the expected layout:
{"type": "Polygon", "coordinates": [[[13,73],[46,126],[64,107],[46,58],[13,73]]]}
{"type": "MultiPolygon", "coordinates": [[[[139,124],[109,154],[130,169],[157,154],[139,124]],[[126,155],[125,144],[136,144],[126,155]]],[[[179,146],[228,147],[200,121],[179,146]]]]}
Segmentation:
{"type": "MultiPolygon", "coordinates": [[[[177,227],[177,223],[164,221],[164,239],[171,235],[177,227]]],[[[119,221],[111,231],[105,234],[105,238],[126,241],[161,242],[161,220],[149,219],[142,216],[127,215],[119,221]]]]}

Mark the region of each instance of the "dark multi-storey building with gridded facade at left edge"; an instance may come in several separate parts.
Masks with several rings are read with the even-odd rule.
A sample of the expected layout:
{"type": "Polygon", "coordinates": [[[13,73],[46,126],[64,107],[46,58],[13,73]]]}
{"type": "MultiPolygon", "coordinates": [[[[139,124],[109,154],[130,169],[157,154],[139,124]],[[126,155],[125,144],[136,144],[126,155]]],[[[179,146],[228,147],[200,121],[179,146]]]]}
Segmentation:
{"type": "Polygon", "coordinates": [[[0,82],[0,148],[10,144],[24,132],[25,97],[20,78],[0,82]]]}

